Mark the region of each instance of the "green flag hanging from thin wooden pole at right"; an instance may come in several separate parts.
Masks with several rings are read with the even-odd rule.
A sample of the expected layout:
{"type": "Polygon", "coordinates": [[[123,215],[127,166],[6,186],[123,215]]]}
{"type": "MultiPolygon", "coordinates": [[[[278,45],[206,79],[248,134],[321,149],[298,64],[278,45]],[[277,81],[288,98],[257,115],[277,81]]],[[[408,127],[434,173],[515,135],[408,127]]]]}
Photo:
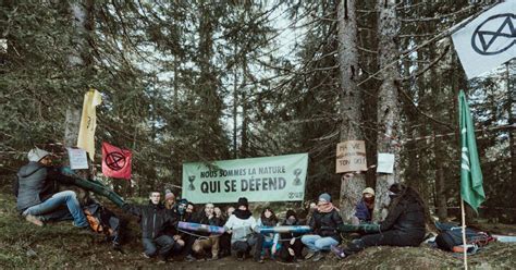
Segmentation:
{"type": "Polygon", "coordinates": [[[478,207],[486,200],[482,186],[482,170],[477,152],[475,128],[469,106],[464,91],[458,94],[458,119],[460,126],[460,196],[478,212],[478,207]]]}

